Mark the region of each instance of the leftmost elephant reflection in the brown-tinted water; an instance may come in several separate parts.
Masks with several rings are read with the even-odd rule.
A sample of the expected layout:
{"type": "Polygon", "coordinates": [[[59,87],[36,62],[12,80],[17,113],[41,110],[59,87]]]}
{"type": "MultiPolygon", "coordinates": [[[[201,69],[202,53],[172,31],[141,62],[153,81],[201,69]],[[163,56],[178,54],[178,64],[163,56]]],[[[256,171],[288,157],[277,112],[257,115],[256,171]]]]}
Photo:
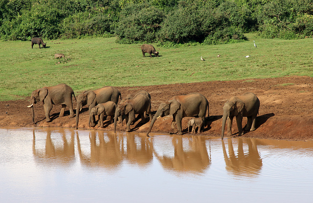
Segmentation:
{"type": "Polygon", "coordinates": [[[59,162],[62,165],[73,163],[75,161],[74,131],[71,131],[69,141],[67,141],[66,132],[63,128],[58,130],[46,128],[46,133],[45,148],[40,148],[41,145],[38,141],[36,144],[35,129],[33,130],[33,155],[35,159],[47,163],[59,162]],[[62,142],[57,142],[58,136],[51,139],[51,132],[59,133],[62,136],[62,142]]]}

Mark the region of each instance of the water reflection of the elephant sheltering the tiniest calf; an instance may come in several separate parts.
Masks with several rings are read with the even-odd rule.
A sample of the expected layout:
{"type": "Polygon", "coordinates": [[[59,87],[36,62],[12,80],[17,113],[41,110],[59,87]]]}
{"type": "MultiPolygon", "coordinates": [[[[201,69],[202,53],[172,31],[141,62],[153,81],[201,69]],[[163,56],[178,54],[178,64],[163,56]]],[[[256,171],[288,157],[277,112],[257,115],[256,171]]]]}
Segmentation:
{"type": "Polygon", "coordinates": [[[211,165],[211,155],[208,154],[205,139],[201,136],[174,136],[174,157],[159,156],[154,150],[156,158],[165,169],[175,172],[185,171],[200,174],[211,165]],[[188,150],[184,149],[183,142],[189,141],[188,150]]]}

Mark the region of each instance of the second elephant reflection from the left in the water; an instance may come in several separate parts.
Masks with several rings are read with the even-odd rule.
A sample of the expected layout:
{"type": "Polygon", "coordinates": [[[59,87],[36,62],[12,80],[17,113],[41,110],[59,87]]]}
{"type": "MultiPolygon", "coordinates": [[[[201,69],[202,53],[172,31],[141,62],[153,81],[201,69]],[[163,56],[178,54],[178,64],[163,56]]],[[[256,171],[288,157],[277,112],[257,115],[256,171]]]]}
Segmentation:
{"type": "Polygon", "coordinates": [[[123,137],[114,136],[113,134],[105,135],[104,131],[90,131],[90,153],[82,150],[78,133],[77,148],[82,164],[86,166],[102,166],[109,169],[115,169],[123,162],[125,153],[123,148],[123,137]],[[97,144],[98,133],[99,144],[97,144]]]}

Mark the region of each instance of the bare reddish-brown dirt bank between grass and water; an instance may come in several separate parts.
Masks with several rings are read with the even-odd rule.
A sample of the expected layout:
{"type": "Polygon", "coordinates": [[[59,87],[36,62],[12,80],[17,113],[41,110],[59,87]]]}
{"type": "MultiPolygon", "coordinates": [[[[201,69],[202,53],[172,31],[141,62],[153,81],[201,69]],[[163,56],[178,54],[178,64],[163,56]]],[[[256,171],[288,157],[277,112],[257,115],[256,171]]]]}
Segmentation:
{"type": "MultiPolygon", "coordinates": [[[[149,92],[154,113],[160,102],[169,100],[176,95],[199,92],[209,101],[210,113],[208,126],[199,135],[216,137],[220,137],[221,134],[224,102],[232,96],[253,92],[261,102],[256,123],[257,129],[253,132],[246,132],[242,137],[313,141],[313,78],[311,77],[292,76],[117,88],[120,90],[122,97],[141,89],[149,92]]],[[[29,105],[29,97],[17,101],[0,102],[0,127],[75,127],[75,117],[71,119],[67,117],[69,115],[68,109],[66,109],[65,117],[58,117],[61,109],[60,105],[54,106],[50,113],[52,122],[45,122],[42,103],[34,105],[36,124],[33,124],[30,109],[27,108],[27,105],[29,105]]],[[[76,106],[75,101],[73,106],[76,106]]],[[[188,133],[188,119],[184,118],[182,121],[183,133],[188,133]]],[[[82,109],[79,120],[78,127],[80,129],[89,128],[87,107],[82,109]]],[[[139,121],[137,119],[134,125],[131,125],[132,130],[146,132],[150,122],[141,124],[139,121]]],[[[174,132],[171,129],[171,121],[172,116],[157,119],[151,132],[166,134],[174,132]]],[[[96,126],[91,129],[112,131],[113,124],[108,122],[108,120],[105,121],[105,128],[96,126]]],[[[244,118],[243,126],[245,124],[246,118],[244,118]]],[[[235,121],[232,130],[233,133],[238,132],[235,121]]],[[[123,127],[118,125],[117,131],[125,131],[125,125],[123,127]]]]}

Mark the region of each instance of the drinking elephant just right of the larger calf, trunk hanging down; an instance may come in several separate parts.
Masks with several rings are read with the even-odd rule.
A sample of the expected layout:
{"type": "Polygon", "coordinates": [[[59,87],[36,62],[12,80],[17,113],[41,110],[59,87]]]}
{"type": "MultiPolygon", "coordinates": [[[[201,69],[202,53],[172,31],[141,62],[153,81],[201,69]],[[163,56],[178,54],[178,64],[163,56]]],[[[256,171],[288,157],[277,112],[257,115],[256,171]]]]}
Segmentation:
{"type": "Polygon", "coordinates": [[[134,98],[117,105],[114,115],[114,133],[116,132],[116,120],[119,116],[125,115],[126,132],[130,132],[130,125],[135,120],[135,114],[140,114],[141,122],[145,122],[144,112],[149,114],[151,121],[151,101],[145,94],[137,94],[134,98]]]}

